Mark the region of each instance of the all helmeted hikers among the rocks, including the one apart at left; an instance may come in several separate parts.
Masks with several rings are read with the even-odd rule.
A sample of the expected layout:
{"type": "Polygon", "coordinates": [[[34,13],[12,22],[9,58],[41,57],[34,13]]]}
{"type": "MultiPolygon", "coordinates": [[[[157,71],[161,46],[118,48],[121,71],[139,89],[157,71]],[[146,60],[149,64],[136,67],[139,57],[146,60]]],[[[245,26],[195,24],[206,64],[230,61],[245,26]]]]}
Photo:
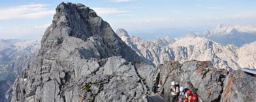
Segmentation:
{"type": "MultiPolygon", "coordinates": [[[[158,86],[156,84],[153,85],[152,91],[154,93],[157,92],[163,92],[163,86],[159,84],[158,86]]],[[[171,93],[171,102],[196,102],[198,101],[197,93],[192,92],[192,90],[189,90],[188,88],[180,87],[180,84],[171,82],[170,87],[170,93],[171,93]]]]}

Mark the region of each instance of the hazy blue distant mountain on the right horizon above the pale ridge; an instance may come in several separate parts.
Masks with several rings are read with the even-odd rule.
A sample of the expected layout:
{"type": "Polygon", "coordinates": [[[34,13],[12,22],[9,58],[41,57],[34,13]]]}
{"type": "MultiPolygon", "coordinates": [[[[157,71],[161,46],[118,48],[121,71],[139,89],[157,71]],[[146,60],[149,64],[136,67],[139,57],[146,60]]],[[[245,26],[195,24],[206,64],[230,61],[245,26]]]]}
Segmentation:
{"type": "Polygon", "coordinates": [[[256,25],[219,24],[216,28],[206,30],[204,33],[193,33],[190,35],[205,37],[223,46],[227,44],[242,46],[243,44],[256,41],[256,25]]]}

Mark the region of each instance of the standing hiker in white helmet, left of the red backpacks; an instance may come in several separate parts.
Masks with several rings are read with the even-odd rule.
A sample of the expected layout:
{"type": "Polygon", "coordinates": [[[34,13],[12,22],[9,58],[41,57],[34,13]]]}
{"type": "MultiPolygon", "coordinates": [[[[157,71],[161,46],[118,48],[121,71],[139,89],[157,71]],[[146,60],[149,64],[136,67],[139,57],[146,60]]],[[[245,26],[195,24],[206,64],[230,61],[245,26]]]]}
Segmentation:
{"type": "Polygon", "coordinates": [[[171,101],[178,102],[178,92],[180,92],[180,89],[178,88],[177,84],[175,84],[175,82],[171,82],[171,85],[171,101]]]}

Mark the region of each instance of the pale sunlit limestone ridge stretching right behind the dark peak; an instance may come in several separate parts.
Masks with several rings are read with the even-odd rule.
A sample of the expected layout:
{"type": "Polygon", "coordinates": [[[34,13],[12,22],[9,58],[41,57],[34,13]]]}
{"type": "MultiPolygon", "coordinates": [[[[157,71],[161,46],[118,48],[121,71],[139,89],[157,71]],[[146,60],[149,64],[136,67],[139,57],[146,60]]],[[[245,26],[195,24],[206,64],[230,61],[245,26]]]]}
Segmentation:
{"type": "Polygon", "coordinates": [[[180,62],[198,60],[211,61],[214,67],[223,69],[240,69],[240,67],[255,69],[256,50],[254,46],[256,42],[239,48],[231,44],[222,46],[203,37],[187,36],[176,40],[171,37],[167,38],[169,40],[165,37],[146,41],[139,37],[129,37],[128,33],[126,36],[121,36],[121,39],[140,56],[153,61],[156,65],[170,60],[180,62]]]}

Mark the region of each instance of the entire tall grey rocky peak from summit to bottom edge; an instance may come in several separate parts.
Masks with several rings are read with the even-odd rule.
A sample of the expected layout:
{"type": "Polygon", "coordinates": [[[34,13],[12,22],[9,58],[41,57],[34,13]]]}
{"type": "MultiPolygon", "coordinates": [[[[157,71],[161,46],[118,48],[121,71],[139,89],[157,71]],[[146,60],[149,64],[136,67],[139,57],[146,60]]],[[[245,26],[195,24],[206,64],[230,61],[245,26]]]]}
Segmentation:
{"type": "Polygon", "coordinates": [[[140,101],[153,71],[89,7],[61,3],[12,101],[140,101]]]}

